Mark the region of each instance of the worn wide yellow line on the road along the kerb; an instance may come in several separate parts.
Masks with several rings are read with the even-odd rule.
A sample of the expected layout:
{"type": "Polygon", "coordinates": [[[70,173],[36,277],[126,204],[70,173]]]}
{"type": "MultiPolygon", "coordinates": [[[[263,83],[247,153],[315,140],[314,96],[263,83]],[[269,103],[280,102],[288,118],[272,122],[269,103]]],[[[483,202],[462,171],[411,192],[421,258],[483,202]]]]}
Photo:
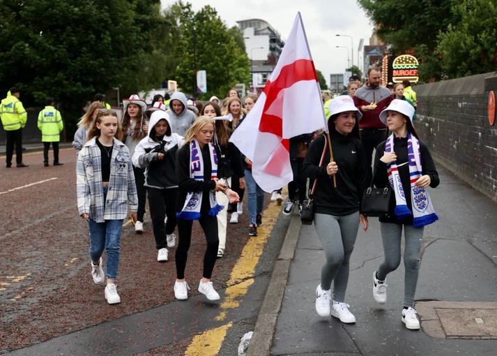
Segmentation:
{"type": "MultiPolygon", "coordinates": [[[[286,194],[286,190],[284,194],[286,194]]],[[[271,202],[266,210],[264,210],[262,214],[264,224],[257,229],[257,237],[250,237],[247,244],[243,247],[236,265],[231,270],[229,281],[227,281],[228,288],[226,289],[223,302],[220,304],[221,311],[215,317],[216,321],[222,321],[227,318],[229,309],[238,308],[240,306],[239,300],[247,294],[248,288],[254,283],[255,267],[259,262],[259,258],[281,209],[281,205],[271,202]]],[[[232,322],[229,322],[227,325],[206,330],[195,336],[192,343],[188,346],[185,355],[217,355],[231,325],[232,322]]]]}

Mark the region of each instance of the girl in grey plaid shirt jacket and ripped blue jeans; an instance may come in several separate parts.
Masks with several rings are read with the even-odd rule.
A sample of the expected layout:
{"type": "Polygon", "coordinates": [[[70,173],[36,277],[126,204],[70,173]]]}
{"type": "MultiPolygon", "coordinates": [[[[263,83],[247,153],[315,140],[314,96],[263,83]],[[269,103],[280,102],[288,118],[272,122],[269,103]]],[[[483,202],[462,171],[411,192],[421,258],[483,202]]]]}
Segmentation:
{"type": "Polygon", "coordinates": [[[121,302],[116,290],[123,219],[130,206],[136,219],[138,198],[128,147],[114,138],[119,131],[116,112],[102,109],[77,156],[77,207],[89,224],[91,276],[105,280],[102,253],[107,251],[105,299],[121,302]]]}

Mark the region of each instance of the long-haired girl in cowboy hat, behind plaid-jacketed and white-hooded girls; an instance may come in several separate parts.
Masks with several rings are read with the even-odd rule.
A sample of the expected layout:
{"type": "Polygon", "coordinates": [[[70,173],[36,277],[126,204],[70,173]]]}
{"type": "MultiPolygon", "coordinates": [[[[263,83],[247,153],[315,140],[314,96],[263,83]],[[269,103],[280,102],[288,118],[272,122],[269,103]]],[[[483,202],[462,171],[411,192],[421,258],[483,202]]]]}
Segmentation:
{"type": "MultiPolygon", "coordinates": [[[[128,99],[123,99],[123,128],[121,130],[121,141],[123,141],[130,151],[130,156],[135,153],[135,148],[148,132],[148,120],[146,118],[146,103],[136,94],[128,99]]],[[[135,232],[143,232],[143,221],[145,215],[146,189],[144,170],[133,166],[135,181],[138,193],[138,213],[135,223],[135,232]]]]}

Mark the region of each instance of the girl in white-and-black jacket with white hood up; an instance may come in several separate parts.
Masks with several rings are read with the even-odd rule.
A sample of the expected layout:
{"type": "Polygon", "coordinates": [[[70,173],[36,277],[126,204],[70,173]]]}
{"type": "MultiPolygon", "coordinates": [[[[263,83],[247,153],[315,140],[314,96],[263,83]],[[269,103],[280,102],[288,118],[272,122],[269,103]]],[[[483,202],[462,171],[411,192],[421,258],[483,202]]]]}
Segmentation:
{"type": "Polygon", "coordinates": [[[152,218],[158,262],[168,260],[167,247],[176,245],[176,152],[183,138],[171,132],[171,119],[167,112],[153,112],[148,126],[148,136],[139,142],[132,156],[132,163],[145,170],[148,207],[152,218]],[[165,216],[167,215],[167,221],[165,216]]]}

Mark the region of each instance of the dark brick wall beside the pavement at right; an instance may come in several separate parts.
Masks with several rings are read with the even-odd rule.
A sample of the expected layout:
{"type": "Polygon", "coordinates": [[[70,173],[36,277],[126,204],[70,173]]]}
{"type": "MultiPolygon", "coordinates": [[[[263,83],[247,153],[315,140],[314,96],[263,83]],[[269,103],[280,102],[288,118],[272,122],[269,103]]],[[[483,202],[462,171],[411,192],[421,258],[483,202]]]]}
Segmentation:
{"type": "MultiPolygon", "coordinates": [[[[414,87],[416,131],[438,163],[497,201],[497,124],[487,116],[497,72],[414,87]]],[[[497,93],[496,93],[497,94],[497,93]]]]}

